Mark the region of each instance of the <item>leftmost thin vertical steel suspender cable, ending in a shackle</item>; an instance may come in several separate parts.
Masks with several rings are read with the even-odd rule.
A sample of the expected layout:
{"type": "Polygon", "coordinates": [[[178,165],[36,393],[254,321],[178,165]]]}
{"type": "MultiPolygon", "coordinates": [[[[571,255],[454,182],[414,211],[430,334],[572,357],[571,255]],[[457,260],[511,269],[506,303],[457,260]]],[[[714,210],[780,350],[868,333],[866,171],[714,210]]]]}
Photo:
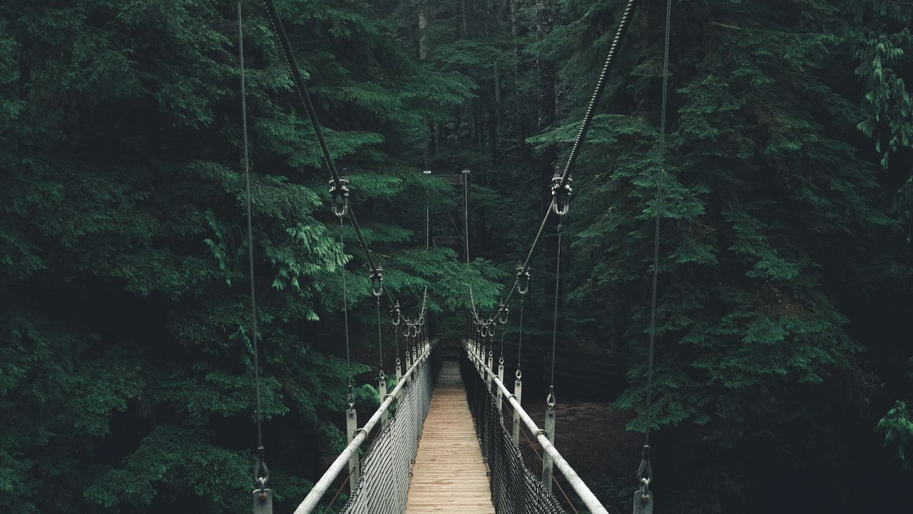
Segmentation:
{"type": "Polygon", "coordinates": [[[250,157],[247,150],[247,86],[244,73],[244,20],[241,16],[241,1],[237,2],[237,55],[241,79],[241,145],[243,152],[245,207],[247,208],[247,273],[250,275],[250,341],[254,350],[254,395],[257,404],[257,470],[254,479],[260,491],[266,488],[269,471],[263,446],[263,408],[260,402],[260,359],[257,346],[257,294],[254,284],[254,229],[250,200],[250,157]],[[263,475],[260,476],[260,472],[263,475]]]}

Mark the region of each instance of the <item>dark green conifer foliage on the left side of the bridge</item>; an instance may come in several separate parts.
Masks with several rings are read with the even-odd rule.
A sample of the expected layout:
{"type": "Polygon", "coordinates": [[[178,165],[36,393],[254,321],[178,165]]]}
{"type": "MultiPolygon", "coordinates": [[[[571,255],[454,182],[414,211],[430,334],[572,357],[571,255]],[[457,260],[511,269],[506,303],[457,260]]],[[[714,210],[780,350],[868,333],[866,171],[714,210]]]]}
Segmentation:
{"type": "MultiPolygon", "coordinates": [[[[439,272],[472,273],[490,303],[479,273],[500,277],[487,263],[470,270],[452,253],[413,250],[423,227],[396,219],[402,198],[443,190],[401,148],[425,116],[466,99],[470,82],[420,66],[366,5],[280,8],[307,49],[302,68],[320,77],[331,150],[358,171],[355,201],[390,270],[385,284],[412,299],[429,286],[453,308],[467,301],[457,300],[465,283],[439,272]]],[[[234,8],[98,0],[4,10],[0,509],[244,509],[253,396],[234,8]]],[[[268,444],[294,426],[332,452],[346,363],[328,177],[262,5],[246,2],[245,14],[268,444]]],[[[358,270],[348,228],[346,239],[358,270]]],[[[354,273],[359,311],[368,281],[354,273]]],[[[375,361],[369,327],[355,330],[363,362],[375,361]]],[[[376,405],[370,386],[356,392],[376,405]]],[[[289,502],[319,472],[293,464],[305,452],[268,453],[289,502]]]]}

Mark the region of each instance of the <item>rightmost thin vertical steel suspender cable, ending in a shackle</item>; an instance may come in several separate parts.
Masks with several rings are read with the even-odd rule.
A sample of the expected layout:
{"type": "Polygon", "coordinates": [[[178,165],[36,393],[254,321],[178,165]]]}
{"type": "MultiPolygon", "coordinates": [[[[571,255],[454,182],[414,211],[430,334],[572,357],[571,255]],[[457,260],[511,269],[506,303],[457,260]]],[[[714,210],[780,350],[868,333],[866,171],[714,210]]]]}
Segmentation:
{"type": "Polygon", "coordinates": [[[656,347],[656,284],[659,281],[659,225],[663,206],[663,174],[666,159],[666,107],[668,103],[669,80],[669,38],[672,25],[672,0],[666,0],[666,37],[663,45],[663,99],[659,113],[659,168],[656,172],[656,203],[654,204],[655,222],[653,231],[653,277],[650,293],[650,337],[646,364],[646,399],[644,413],[644,451],[641,464],[637,469],[637,478],[644,485],[644,492],[649,491],[653,480],[653,468],[650,463],[650,424],[653,406],[653,356],[656,347]],[[646,477],[644,477],[646,475],[646,477]]]}

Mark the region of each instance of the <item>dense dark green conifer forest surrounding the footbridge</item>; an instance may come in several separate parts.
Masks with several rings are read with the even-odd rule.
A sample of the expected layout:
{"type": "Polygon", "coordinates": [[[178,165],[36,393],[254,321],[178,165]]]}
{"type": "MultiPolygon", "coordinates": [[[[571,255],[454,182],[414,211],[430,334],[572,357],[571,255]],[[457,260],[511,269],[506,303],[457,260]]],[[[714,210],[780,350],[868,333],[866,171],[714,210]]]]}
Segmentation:
{"type": "MultiPolygon", "coordinates": [[[[248,512],[257,357],[292,512],[346,445],[350,376],[367,419],[402,357],[359,237],[433,337],[495,312],[627,2],[275,4],[361,233],[263,2],[0,5],[0,511],[248,512]]],[[[509,303],[524,404],[553,365],[585,414],[556,445],[611,512],[647,423],[657,514],[908,509],[913,4],[674,0],[666,105],[666,1],[634,4],[522,336],[509,303]]]]}

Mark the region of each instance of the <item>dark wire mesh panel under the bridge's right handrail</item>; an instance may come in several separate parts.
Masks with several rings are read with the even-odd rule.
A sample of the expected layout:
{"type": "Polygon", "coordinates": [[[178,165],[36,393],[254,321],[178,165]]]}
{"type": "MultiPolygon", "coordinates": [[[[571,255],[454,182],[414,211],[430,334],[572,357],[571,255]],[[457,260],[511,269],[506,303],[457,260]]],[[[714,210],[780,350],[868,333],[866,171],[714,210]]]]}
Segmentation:
{"type": "Polygon", "coordinates": [[[504,427],[494,395],[466,355],[460,358],[469,412],[491,472],[491,500],[498,514],[566,514],[561,502],[530,472],[504,427]]]}

